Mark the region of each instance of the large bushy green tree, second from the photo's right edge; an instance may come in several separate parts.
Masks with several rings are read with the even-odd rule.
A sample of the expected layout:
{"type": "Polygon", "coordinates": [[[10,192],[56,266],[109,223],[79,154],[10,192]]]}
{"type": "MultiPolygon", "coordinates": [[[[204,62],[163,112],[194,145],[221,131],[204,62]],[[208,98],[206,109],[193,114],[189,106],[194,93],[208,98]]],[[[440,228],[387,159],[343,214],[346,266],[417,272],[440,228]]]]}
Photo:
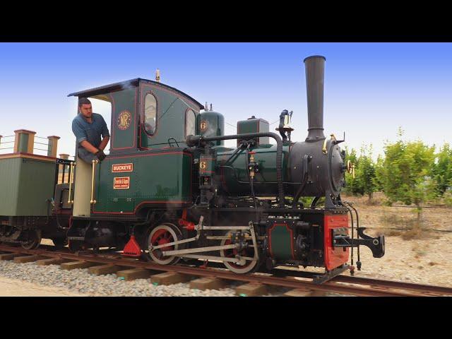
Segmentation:
{"type": "MultiPolygon", "coordinates": [[[[399,129],[398,136],[403,131],[399,129]]],[[[421,220],[422,203],[434,196],[432,165],[434,146],[422,141],[386,143],[385,158],[376,171],[377,182],[389,201],[402,201],[405,205],[417,206],[418,222],[421,220]]]]}

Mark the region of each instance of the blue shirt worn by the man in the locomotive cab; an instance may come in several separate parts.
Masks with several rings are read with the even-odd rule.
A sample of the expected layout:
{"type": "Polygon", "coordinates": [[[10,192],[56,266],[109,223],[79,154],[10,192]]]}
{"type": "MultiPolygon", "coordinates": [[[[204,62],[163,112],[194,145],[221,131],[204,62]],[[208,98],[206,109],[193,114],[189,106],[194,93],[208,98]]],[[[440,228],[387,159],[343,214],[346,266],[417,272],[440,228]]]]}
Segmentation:
{"type": "Polygon", "coordinates": [[[93,113],[92,117],[93,123],[91,124],[83,118],[82,114],[77,114],[72,120],[72,131],[77,139],[78,157],[86,162],[91,162],[96,159],[96,156],[81,146],[80,143],[86,140],[95,148],[98,148],[102,142],[102,138],[110,136],[107,124],[102,115],[93,113]]]}

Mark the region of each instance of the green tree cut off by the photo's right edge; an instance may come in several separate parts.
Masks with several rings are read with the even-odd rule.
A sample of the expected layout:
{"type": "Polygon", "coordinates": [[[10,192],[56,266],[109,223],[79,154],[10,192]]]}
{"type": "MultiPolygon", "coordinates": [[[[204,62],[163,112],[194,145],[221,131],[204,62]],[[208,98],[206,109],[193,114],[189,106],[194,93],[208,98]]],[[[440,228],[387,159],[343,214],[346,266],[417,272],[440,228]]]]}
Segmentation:
{"type": "Polygon", "coordinates": [[[442,196],[452,186],[452,149],[448,143],[439,149],[432,169],[432,177],[436,184],[436,193],[442,196]]]}

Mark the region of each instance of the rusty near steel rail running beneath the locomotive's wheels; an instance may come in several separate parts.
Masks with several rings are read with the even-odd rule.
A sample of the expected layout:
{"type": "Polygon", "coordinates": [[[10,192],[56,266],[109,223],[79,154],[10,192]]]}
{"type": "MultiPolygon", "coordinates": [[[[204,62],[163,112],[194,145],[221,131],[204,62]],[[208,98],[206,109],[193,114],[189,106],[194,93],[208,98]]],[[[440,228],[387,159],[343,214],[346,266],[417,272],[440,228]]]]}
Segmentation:
{"type": "MultiPolygon", "coordinates": [[[[362,297],[419,297],[429,295],[452,295],[452,288],[430,285],[417,285],[412,283],[399,283],[396,281],[377,280],[370,278],[347,277],[338,275],[333,280],[316,285],[311,281],[298,280],[297,276],[274,276],[259,274],[236,274],[226,269],[218,268],[198,268],[183,265],[162,266],[157,263],[139,261],[138,259],[122,258],[121,254],[113,251],[101,251],[99,254],[78,254],[69,251],[52,251],[53,246],[46,246],[47,249],[23,249],[22,247],[0,245],[0,251],[34,254],[49,258],[65,258],[74,261],[90,261],[117,266],[129,266],[157,271],[172,271],[186,275],[200,277],[220,278],[225,280],[242,281],[246,283],[258,283],[263,285],[273,285],[279,287],[300,288],[304,290],[316,290],[321,292],[333,292],[343,295],[357,295],[362,297]],[[345,285],[354,284],[354,285],[345,285]],[[369,285],[363,287],[359,285],[369,285]],[[391,290],[393,289],[393,290],[391,290]]],[[[290,274],[295,271],[287,271],[290,274]]],[[[306,278],[306,277],[302,277],[306,278]]]]}

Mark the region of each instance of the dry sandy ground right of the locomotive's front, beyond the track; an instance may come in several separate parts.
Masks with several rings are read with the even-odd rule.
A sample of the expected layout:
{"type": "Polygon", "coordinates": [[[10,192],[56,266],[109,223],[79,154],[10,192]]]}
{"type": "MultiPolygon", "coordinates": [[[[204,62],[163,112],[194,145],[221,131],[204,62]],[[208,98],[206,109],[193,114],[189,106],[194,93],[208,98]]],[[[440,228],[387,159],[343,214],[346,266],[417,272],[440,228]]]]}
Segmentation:
{"type": "Polygon", "coordinates": [[[386,239],[383,258],[373,258],[362,247],[362,270],[355,271],[357,276],[452,287],[452,208],[424,208],[422,226],[410,230],[417,220],[415,208],[381,206],[381,194],[375,195],[376,205],[369,204],[367,197],[342,198],[355,203],[360,226],[369,227],[369,235],[384,234],[386,239]]]}

